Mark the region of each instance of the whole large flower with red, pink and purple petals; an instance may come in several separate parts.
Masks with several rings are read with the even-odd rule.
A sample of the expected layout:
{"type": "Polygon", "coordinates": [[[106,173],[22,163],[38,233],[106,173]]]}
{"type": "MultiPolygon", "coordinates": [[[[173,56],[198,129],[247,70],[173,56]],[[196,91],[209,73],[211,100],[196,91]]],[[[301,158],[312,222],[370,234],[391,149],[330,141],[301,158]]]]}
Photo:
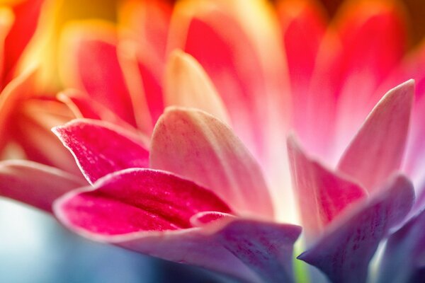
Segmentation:
{"type": "Polygon", "coordinates": [[[312,1],[276,11],[264,1],[126,1],[118,30],[70,26],[60,68],[79,91],[58,99],[79,119],[54,132],[90,185],[72,190],[81,181],[64,171],[8,161],[16,171],[1,182],[15,185],[2,195],[49,210],[72,190],[54,212],[83,236],[280,282],[293,280],[300,233],[279,224],[293,221],[291,176],[300,260],[332,282],[385,282],[407,254],[397,279],[420,276],[424,60],[421,50],[402,59],[399,6],[351,2],[331,24],[312,1]],[[23,169],[29,200],[18,193],[23,169]]]}

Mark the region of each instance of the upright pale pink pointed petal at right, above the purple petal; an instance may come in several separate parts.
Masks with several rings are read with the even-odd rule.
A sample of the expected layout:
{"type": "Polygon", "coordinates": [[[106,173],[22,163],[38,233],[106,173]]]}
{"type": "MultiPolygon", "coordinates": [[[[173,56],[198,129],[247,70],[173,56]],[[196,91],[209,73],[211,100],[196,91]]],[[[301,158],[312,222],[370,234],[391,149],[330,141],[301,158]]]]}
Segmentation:
{"type": "Polygon", "coordinates": [[[339,161],[339,170],[356,178],[369,191],[399,169],[413,96],[413,80],[386,93],[339,161]]]}

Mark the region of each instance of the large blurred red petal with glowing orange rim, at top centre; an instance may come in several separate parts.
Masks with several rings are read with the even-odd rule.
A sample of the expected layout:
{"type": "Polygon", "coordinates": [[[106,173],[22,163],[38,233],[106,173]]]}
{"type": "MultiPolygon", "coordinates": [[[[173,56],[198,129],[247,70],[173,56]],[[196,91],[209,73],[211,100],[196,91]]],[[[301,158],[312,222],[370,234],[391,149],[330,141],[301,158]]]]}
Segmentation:
{"type": "MultiPolygon", "coordinates": [[[[176,38],[171,38],[170,47],[191,54],[200,63],[220,93],[238,137],[256,156],[263,156],[266,74],[246,27],[229,11],[232,5],[221,4],[205,6],[192,1],[176,6],[171,21],[176,38]]],[[[244,4],[252,8],[251,1],[244,4]]]]}

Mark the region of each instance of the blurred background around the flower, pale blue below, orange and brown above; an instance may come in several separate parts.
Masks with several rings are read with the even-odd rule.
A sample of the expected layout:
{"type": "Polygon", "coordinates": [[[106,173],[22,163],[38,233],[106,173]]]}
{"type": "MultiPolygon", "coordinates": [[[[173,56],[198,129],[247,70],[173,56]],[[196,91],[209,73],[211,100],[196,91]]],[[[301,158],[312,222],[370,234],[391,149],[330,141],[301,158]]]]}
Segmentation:
{"type": "MultiPolygon", "coordinates": [[[[329,18],[340,0],[322,0],[329,18]]],[[[405,0],[413,47],[425,34],[423,0],[405,0]]],[[[68,21],[102,18],[116,21],[116,0],[63,0],[55,36],[68,21]]],[[[55,37],[54,36],[54,37],[55,37]]],[[[55,42],[50,48],[55,49],[55,42]]],[[[222,282],[224,278],[92,243],[69,233],[51,216],[23,204],[0,199],[0,282],[222,282]]]]}

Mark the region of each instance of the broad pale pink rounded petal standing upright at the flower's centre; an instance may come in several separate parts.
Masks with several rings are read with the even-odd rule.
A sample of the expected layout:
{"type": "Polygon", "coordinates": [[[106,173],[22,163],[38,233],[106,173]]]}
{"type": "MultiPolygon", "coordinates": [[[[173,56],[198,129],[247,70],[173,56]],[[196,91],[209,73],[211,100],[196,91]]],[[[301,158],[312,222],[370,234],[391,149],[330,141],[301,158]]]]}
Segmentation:
{"type": "Polygon", "coordinates": [[[258,163],[232,130],[208,113],[168,108],[154,129],[150,165],[209,187],[237,212],[273,216],[258,163]]]}

